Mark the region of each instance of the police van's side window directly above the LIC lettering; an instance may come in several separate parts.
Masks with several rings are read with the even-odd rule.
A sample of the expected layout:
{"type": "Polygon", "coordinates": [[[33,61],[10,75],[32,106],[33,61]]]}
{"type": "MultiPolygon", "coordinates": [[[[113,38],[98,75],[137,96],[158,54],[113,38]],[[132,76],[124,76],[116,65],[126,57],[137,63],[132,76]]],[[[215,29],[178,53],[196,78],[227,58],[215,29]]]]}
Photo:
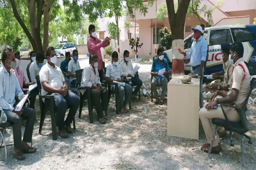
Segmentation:
{"type": "Polygon", "coordinates": [[[222,43],[232,43],[232,37],[229,29],[211,30],[209,45],[220,45],[222,43]]]}

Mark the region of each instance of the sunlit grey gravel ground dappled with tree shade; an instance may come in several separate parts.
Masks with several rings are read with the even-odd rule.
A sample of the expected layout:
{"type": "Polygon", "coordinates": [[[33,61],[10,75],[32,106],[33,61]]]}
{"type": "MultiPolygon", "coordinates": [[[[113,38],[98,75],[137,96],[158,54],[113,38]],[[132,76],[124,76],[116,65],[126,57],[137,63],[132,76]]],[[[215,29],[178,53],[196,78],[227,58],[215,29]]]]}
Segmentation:
{"type": "MultiPolygon", "coordinates": [[[[147,86],[150,74],[140,73],[147,86]]],[[[95,121],[89,123],[87,105],[83,107],[82,117],[76,115],[76,130],[68,139],[58,137],[52,140],[51,120],[47,115],[42,135],[38,134],[40,111],[36,103],[37,122],[34,126],[33,146],[38,148],[34,154],[25,154],[24,161],[13,158],[12,146],[8,147],[8,159],[4,160],[4,149],[0,149],[0,170],[159,170],[159,169],[214,169],[237,170],[241,167],[241,149],[238,135],[234,134],[235,146],[229,145],[228,137],[221,140],[222,150],[218,155],[207,159],[207,153],[200,150],[206,143],[200,124],[199,140],[167,136],[167,102],[162,106],[150,102],[150,97],[141,97],[140,102],[132,103],[132,110],[123,115],[115,114],[115,101],[111,98],[109,120],[102,125],[95,121]],[[145,112],[146,111],[146,112],[145,112]]],[[[248,121],[253,144],[245,140],[246,169],[256,165],[256,105],[248,106],[248,121]]],[[[94,119],[97,114],[94,109],[94,119]]],[[[24,128],[23,128],[24,130],[24,128]]],[[[12,129],[4,134],[7,143],[12,142],[12,129]]]]}

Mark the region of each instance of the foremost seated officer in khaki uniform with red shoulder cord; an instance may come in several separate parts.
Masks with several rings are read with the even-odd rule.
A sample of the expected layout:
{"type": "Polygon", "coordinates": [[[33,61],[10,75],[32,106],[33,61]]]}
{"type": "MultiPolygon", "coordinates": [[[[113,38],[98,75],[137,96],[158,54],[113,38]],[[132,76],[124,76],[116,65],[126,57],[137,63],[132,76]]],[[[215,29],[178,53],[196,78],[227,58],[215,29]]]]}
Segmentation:
{"type": "MultiPolygon", "coordinates": [[[[211,123],[211,119],[225,119],[221,107],[217,109],[213,109],[213,106],[219,104],[233,104],[236,106],[240,106],[250,90],[250,74],[247,66],[244,63],[243,59],[244,48],[241,42],[234,42],[230,47],[231,54],[231,62],[234,61],[234,66],[232,69],[230,87],[231,89],[227,91],[217,91],[217,95],[222,96],[223,98],[217,99],[210,103],[207,103],[205,107],[200,109],[199,116],[202,122],[205,135],[207,138],[207,144],[204,144],[201,147],[201,150],[204,152],[208,152],[210,147],[210,141],[213,134],[213,129],[215,125],[211,123]]],[[[216,96],[215,96],[216,97],[216,96]]],[[[214,97],[214,98],[215,98],[214,97]]],[[[230,107],[223,107],[225,110],[227,117],[230,121],[238,122],[240,120],[239,115],[236,110],[230,107]]],[[[212,153],[219,153],[220,150],[220,140],[219,135],[215,136],[215,140],[213,143],[212,153]]]]}

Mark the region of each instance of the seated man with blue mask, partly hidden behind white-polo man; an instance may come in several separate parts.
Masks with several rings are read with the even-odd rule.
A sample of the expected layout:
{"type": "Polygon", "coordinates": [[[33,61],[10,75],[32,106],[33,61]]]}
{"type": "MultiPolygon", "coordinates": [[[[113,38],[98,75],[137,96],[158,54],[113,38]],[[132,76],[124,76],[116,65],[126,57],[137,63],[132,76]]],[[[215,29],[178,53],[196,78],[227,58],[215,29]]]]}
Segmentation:
{"type": "MultiPolygon", "coordinates": [[[[36,76],[39,75],[39,71],[43,66],[43,62],[44,62],[44,54],[37,53],[36,59],[29,66],[29,74],[32,82],[36,82],[36,76]]],[[[32,109],[35,109],[35,101],[36,101],[37,95],[38,95],[38,88],[36,87],[30,92],[29,107],[32,109]]]]}

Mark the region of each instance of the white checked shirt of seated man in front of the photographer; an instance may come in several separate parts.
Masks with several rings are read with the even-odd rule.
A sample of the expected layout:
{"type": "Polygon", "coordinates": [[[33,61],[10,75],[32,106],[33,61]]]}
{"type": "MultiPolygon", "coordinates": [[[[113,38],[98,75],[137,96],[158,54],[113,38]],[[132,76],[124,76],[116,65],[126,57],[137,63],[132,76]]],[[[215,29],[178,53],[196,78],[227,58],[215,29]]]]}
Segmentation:
{"type": "Polygon", "coordinates": [[[91,64],[84,67],[81,80],[81,87],[92,87],[92,85],[101,84],[98,68],[96,68],[95,72],[96,74],[94,73],[91,64]]]}

